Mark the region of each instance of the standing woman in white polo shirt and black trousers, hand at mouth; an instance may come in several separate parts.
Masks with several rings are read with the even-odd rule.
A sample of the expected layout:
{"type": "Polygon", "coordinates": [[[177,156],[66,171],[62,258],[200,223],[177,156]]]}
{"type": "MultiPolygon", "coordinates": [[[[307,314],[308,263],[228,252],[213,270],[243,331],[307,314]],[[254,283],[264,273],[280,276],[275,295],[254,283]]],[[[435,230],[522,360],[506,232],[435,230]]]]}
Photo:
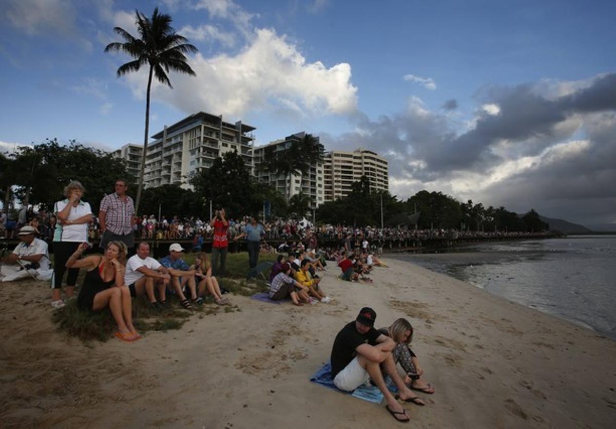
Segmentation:
{"type": "Polygon", "coordinates": [[[67,198],[54,205],[54,213],[58,219],[54,232],[54,277],[51,284],[54,288],[51,305],[54,308],[64,306],[60,290],[65,271],[68,271],[67,298],[72,298],[75,291],[79,268],[67,270],[65,264],[79,244],[87,242],[88,239],[87,228],[92,223],[92,210],[88,203],[81,201],[84,192],[85,189],[80,182],[72,181],[64,188],[64,195],[67,198]]]}

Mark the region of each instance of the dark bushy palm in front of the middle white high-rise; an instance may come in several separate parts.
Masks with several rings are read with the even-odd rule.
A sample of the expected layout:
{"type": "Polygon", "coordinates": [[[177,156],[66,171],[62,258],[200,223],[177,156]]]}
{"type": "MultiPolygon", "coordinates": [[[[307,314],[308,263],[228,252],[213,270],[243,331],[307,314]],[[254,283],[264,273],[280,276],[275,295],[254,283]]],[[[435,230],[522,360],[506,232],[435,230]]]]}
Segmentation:
{"type": "MultiPolygon", "coordinates": [[[[264,163],[261,169],[270,174],[285,176],[290,179],[291,174],[310,173],[310,166],[323,161],[323,145],[312,134],[294,134],[295,139],[290,147],[285,150],[275,151],[275,145],[267,147],[264,153],[264,163]]],[[[290,190],[291,187],[289,186],[290,190]]],[[[285,200],[288,202],[290,195],[285,192],[285,200]]]]}

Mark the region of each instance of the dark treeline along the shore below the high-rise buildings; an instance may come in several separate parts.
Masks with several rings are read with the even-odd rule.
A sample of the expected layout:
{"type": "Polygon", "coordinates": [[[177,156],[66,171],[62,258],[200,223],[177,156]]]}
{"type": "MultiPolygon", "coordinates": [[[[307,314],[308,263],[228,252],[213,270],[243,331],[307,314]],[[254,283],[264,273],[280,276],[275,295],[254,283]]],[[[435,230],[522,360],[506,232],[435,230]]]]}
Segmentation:
{"type": "MultiPolygon", "coordinates": [[[[24,204],[40,205],[49,210],[62,196],[63,187],[79,180],[86,187],[84,200],[97,213],[103,195],[113,192],[116,178],[125,178],[134,185],[123,160],[107,152],[84,147],[71,141],[60,145],[55,139],[33,147],[19,147],[11,155],[0,153],[0,192],[4,206],[14,199],[24,204]]],[[[535,210],[520,217],[505,207],[484,207],[482,203],[459,202],[442,192],[421,190],[407,200],[399,200],[389,192],[371,191],[368,179],[362,177],[352,185],[345,198],[325,203],[310,213],[310,198],[294,195],[286,198],[268,184],[251,176],[240,155],[227,152],[214,160],[209,170],[189,178],[194,190],[178,185],[144,189],[139,215],[156,215],[159,209],[168,218],[179,215],[206,219],[210,202],[224,206],[232,218],[262,215],[264,202],[271,206],[272,218],[302,218],[317,223],[346,226],[408,226],[418,229],[458,229],[470,231],[525,231],[549,229],[535,210]],[[381,207],[383,210],[381,211],[381,207]],[[419,216],[413,216],[419,212],[419,216]]],[[[129,188],[134,197],[136,186],[129,188]]]]}

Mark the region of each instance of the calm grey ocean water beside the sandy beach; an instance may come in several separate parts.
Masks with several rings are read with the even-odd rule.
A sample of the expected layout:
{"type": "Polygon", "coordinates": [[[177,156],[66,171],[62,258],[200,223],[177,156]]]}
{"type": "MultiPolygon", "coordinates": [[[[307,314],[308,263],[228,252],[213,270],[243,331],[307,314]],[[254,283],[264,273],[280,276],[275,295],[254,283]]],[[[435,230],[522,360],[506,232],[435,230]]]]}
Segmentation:
{"type": "Polygon", "coordinates": [[[616,340],[616,235],[477,243],[394,257],[616,340]]]}

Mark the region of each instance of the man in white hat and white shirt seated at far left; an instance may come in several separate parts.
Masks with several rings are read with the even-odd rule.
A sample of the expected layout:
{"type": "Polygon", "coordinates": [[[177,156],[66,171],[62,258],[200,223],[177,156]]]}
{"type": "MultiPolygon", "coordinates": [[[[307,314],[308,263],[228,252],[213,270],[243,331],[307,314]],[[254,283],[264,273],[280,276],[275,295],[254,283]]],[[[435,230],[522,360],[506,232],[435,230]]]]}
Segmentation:
{"type": "Polygon", "coordinates": [[[0,281],[10,282],[26,277],[35,280],[51,279],[53,271],[49,269],[47,243],[37,239],[37,233],[36,228],[30,225],[20,229],[17,235],[21,243],[1,261],[0,281]]]}

